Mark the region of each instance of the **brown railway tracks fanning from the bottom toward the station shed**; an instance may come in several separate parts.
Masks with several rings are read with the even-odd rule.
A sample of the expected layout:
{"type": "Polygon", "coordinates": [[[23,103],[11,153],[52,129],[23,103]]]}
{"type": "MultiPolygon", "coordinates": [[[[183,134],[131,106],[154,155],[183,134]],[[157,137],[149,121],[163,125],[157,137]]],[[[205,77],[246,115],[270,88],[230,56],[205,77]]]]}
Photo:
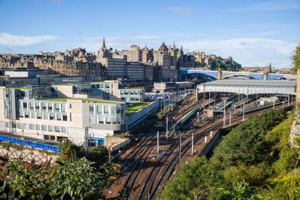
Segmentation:
{"type": "MultiPolygon", "coordinates": [[[[187,104],[189,105],[184,112],[181,110],[181,116],[188,113],[191,109],[194,108],[194,104],[198,105],[201,102],[194,103],[194,100],[186,98],[176,105],[187,104]]],[[[205,103],[207,104],[207,102],[205,103]]],[[[275,108],[280,108],[282,105],[276,105],[275,108]]],[[[272,106],[270,106],[272,107],[272,106]]],[[[263,108],[259,108],[263,109],[263,108]]],[[[176,114],[177,119],[179,109],[174,109],[169,112],[169,114],[176,114]]],[[[246,115],[249,114],[258,114],[263,110],[256,110],[246,112],[246,115]]],[[[180,114],[180,113],[179,113],[180,114]]],[[[226,113],[228,118],[229,113],[226,113]]],[[[236,114],[231,117],[231,124],[240,122],[242,119],[242,114],[236,114]]],[[[204,135],[208,134],[210,130],[217,129],[223,125],[222,116],[214,117],[209,124],[205,127],[198,129],[187,130],[187,126],[192,124],[192,120],[188,120],[185,123],[185,126],[180,130],[186,134],[194,132],[194,144],[198,142],[204,135]]],[[[226,121],[228,124],[229,121],[226,121]]],[[[164,131],[162,127],[155,128],[150,134],[142,138],[141,141],[135,144],[132,149],[127,153],[125,157],[120,157],[116,159],[115,162],[121,164],[121,177],[123,187],[119,193],[119,197],[125,197],[126,199],[146,199],[147,194],[149,193],[150,199],[155,199],[156,196],[162,190],[165,182],[171,177],[172,172],[178,165],[179,152],[178,152],[178,139],[175,137],[170,137],[165,145],[164,151],[159,154],[153,154],[155,152],[154,147],[156,146],[156,131],[164,131]],[[152,159],[151,159],[152,158],[152,159]],[[136,192],[131,192],[130,190],[142,185],[136,189],[136,192]],[[136,195],[138,194],[138,196],[136,195]]],[[[166,142],[164,135],[159,135],[159,144],[166,142]]],[[[188,149],[191,146],[191,142],[187,138],[182,138],[181,140],[181,156],[185,155],[188,149]]],[[[163,145],[162,145],[163,146],[163,145]]],[[[114,195],[115,196],[115,195],[114,195]]]]}

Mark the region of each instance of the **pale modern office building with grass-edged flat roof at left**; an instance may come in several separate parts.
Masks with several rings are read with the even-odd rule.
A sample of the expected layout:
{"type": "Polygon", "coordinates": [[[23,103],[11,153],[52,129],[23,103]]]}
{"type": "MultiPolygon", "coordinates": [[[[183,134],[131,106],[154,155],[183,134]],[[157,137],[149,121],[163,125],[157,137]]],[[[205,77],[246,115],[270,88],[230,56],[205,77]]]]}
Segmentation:
{"type": "Polygon", "coordinates": [[[126,103],[99,99],[52,98],[50,85],[0,87],[0,129],[40,139],[84,141],[126,129],[126,103]]]}

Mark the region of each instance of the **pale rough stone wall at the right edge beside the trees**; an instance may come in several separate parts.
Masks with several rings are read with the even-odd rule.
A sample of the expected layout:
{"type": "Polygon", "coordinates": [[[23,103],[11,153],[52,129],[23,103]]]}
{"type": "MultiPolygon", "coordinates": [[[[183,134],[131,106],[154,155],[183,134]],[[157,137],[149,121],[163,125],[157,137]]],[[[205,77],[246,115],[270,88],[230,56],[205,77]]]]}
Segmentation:
{"type": "Polygon", "coordinates": [[[294,137],[300,136],[300,69],[297,71],[297,90],[296,90],[296,104],[295,104],[295,119],[292,122],[289,142],[291,145],[296,146],[296,142],[293,140],[294,137]]]}

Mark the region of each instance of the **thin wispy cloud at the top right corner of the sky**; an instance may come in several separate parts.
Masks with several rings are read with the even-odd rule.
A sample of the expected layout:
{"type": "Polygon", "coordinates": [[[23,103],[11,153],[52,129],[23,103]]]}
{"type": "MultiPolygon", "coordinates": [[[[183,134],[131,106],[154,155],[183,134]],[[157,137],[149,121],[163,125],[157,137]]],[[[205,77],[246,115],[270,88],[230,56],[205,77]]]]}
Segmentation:
{"type": "Polygon", "coordinates": [[[284,10],[284,9],[298,9],[300,8],[300,1],[295,0],[272,0],[257,2],[247,7],[234,7],[225,9],[224,11],[233,12],[247,12],[247,11],[268,11],[268,10],[284,10]]]}

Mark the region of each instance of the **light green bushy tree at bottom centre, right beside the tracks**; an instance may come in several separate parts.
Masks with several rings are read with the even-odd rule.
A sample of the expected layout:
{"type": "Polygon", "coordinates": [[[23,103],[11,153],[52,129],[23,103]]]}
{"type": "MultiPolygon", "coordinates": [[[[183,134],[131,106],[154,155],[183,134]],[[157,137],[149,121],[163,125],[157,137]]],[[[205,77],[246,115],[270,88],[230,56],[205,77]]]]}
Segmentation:
{"type": "Polygon", "coordinates": [[[180,168],[157,199],[216,199],[215,188],[221,186],[222,179],[221,171],[213,168],[206,157],[197,157],[180,168]]]}

